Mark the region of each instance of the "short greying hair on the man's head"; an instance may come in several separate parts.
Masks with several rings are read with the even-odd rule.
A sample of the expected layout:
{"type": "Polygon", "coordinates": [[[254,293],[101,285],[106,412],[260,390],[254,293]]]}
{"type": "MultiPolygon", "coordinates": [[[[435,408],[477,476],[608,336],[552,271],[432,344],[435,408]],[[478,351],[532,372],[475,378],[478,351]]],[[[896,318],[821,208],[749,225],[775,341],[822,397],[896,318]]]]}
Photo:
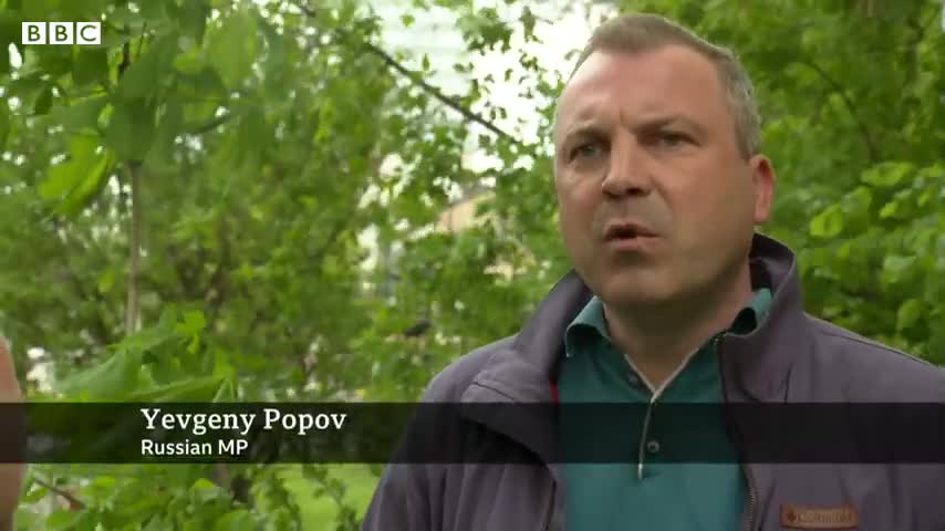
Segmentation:
{"type": "Polygon", "coordinates": [[[761,144],[761,118],[755,101],[755,86],[736,54],[713,44],[692,31],[658,14],[634,13],[611,19],[594,30],[571,76],[595,51],[641,53],[667,45],[688,48],[712,62],[725,87],[728,107],[735,118],[735,134],[741,154],[757,154],[761,144]]]}

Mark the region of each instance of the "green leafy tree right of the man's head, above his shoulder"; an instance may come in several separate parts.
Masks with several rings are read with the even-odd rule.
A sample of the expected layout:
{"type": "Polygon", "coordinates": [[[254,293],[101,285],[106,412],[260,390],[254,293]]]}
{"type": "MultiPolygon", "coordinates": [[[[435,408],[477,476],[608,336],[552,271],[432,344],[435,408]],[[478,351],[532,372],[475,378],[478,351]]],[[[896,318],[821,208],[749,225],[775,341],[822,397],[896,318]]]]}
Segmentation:
{"type": "Polygon", "coordinates": [[[945,364],[941,6],[638,3],[752,73],[781,177],[770,231],[801,251],[808,310],[945,364]]]}

